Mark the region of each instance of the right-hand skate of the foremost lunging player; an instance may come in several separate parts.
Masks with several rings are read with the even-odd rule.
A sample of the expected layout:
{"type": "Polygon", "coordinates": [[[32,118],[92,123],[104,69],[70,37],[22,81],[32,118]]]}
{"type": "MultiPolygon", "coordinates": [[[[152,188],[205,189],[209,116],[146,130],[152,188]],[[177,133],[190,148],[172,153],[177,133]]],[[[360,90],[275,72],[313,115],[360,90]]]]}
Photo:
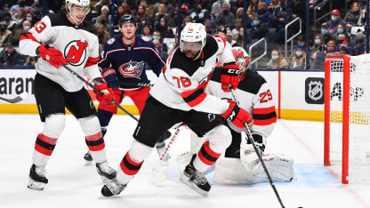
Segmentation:
{"type": "Polygon", "coordinates": [[[211,189],[208,180],[202,172],[198,172],[192,163],[185,167],[185,170],[180,174],[180,180],[185,183],[189,188],[194,189],[201,196],[208,196],[211,189]]]}

